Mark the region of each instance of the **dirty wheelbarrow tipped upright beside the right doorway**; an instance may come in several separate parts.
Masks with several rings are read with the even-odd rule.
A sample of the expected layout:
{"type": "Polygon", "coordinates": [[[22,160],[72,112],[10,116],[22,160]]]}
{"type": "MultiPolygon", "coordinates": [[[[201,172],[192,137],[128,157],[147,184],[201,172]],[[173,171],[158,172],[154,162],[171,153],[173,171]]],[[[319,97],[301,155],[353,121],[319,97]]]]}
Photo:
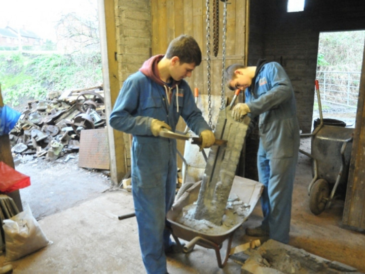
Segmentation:
{"type": "Polygon", "coordinates": [[[354,129],[345,127],[339,120],[323,119],[317,80],[315,87],[320,122],[315,121],[311,134],[301,134],[311,136],[311,154],[300,152],[313,159],[313,179],[308,186],[309,208],[314,215],[319,215],[331,207],[339,186],[346,190],[354,129]]]}

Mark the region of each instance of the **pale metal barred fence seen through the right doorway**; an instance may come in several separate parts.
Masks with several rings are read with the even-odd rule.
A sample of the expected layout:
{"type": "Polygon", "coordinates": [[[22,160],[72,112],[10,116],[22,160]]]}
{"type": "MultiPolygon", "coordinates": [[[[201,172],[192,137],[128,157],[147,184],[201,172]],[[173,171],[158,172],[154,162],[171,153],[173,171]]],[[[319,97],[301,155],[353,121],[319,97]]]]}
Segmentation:
{"type": "Polygon", "coordinates": [[[357,108],[360,72],[317,71],[321,102],[357,108]]]}

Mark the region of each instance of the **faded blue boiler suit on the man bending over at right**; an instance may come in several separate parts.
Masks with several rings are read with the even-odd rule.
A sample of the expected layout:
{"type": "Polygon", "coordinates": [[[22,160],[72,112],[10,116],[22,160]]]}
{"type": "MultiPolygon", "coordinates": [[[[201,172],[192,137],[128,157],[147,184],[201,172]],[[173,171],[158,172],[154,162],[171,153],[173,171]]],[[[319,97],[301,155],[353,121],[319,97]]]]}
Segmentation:
{"type": "Polygon", "coordinates": [[[262,227],[269,237],[289,242],[291,197],[300,145],[293,87],[277,62],[259,60],[252,84],[245,91],[250,116],[259,116],[259,181],[262,227]]]}

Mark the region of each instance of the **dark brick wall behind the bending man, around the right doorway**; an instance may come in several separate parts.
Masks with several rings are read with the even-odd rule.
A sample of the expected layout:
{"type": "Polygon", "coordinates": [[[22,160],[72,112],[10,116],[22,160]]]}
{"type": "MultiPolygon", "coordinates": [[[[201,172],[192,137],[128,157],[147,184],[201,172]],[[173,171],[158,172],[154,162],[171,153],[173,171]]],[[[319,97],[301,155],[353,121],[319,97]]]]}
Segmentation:
{"type": "Polygon", "coordinates": [[[286,2],[250,2],[248,64],[259,58],[282,64],[295,90],[300,127],[309,133],[319,33],[365,29],[365,1],[307,0],[298,13],[287,13],[286,2]]]}

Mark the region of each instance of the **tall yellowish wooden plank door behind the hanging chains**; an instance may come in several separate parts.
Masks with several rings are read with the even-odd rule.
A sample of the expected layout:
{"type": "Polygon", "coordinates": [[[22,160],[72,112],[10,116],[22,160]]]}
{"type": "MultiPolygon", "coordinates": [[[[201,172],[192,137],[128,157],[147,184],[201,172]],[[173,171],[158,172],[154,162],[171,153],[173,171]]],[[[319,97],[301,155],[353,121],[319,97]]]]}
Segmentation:
{"type": "MultiPolygon", "coordinates": [[[[190,79],[186,79],[192,90],[198,88],[198,100],[207,100],[208,94],[208,71],[210,71],[210,94],[214,100],[222,97],[233,96],[233,92],[222,83],[223,78],[223,18],[224,2],[218,2],[219,27],[218,27],[218,51],[213,53],[213,2],[209,0],[209,21],[210,39],[207,40],[207,4],[206,0],[152,0],[152,54],[164,54],[169,42],[181,34],[191,35],[200,45],[203,55],[202,63],[195,68],[190,79]],[[207,66],[207,44],[210,42],[210,69],[207,66]],[[203,95],[203,96],[201,96],[203,95]]],[[[225,47],[225,67],[233,63],[246,64],[247,49],[247,25],[248,21],[248,0],[231,0],[227,4],[227,24],[226,24],[226,47],[225,47]]],[[[208,104],[199,102],[203,106],[202,112],[206,121],[214,126],[216,121],[209,119],[208,104]]],[[[213,102],[211,116],[217,117],[220,102],[213,102]],[[212,113],[213,112],[213,113],[212,113]]],[[[185,123],[180,120],[177,129],[183,131],[185,123]]],[[[177,149],[184,151],[184,143],[178,142],[177,149]]],[[[181,165],[178,159],[178,165],[181,165]]]]}

